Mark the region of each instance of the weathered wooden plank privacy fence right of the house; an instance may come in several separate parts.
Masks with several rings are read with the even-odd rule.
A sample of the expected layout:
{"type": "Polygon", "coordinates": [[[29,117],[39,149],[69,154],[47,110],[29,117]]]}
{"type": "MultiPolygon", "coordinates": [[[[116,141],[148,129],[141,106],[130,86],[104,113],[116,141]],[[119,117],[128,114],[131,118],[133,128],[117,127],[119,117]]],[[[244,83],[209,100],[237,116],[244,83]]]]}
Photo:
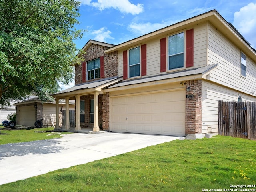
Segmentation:
{"type": "Polygon", "coordinates": [[[256,140],[256,102],[219,101],[219,134],[256,140]]]}

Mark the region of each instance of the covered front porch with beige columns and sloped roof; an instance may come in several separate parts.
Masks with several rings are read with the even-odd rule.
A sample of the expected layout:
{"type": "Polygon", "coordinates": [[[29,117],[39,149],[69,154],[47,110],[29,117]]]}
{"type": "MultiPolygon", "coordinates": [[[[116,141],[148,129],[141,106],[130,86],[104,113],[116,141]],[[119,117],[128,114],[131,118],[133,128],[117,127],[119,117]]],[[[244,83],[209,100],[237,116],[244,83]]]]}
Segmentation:
{"type": "Polygon", "coordinates": [[[56,130],[101,133],[109,130],[109,94],[103,88],[115,84],[122,78],[109,78],[80,84],[52,94],[55,97],[56,130]],[[66,111],[69,100],[75,100],[75,126],[70,126],[70,117],[66,115],[64,125],[60,123],[60,99],[65,99],[66,111]]]}

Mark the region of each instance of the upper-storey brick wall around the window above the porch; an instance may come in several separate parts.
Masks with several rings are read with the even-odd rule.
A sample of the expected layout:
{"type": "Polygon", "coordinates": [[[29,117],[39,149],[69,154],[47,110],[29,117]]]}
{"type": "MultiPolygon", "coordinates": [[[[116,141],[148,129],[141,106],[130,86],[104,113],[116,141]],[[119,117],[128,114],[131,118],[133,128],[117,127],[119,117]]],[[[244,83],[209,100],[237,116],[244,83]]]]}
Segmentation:
{"type": "MultiPolygon", "coordinates": [[[[118,52],[112,52],[110,54],[104,53],[104,50],[109,47],[101,46],[97,44],[92,44],[87,50],[85,50],[86,54],[84,55],[84,62],[99,58],[100,56],[104,56],[104,78],[116,77],[118,75],[118,52]]],[[[77,65],[75,67],[75,85],[82,84],[82,64],[77,65]]],[[[94,80],[104,79],[98,78],[94,80]]],[[[88,82],[94,81],[90,80],[88,82]]]]}

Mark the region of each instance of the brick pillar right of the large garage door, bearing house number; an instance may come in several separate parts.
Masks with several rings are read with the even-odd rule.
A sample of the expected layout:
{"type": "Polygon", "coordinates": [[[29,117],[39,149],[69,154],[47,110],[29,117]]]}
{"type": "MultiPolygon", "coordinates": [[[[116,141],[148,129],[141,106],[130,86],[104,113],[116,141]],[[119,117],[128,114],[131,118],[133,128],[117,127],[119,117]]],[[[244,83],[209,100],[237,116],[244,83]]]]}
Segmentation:
{"type": "Polygon", "coordinates": [[[202,133],[202,80],[186,81],[186,134],[202,133]],[[190,91],[187,88],[190,87],[190,91]]]}

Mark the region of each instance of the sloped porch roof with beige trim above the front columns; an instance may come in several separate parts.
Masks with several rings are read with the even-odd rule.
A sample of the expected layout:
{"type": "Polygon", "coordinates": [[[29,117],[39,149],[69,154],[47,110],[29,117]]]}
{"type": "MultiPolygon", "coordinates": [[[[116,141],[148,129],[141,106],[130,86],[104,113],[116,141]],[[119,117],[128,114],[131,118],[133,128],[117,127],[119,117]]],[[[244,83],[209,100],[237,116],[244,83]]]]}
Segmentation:
{"type": "Polygon", "coordinates": [[[101,94],[104,94],[103,88],[116,84],[121,80],[122,78],[115,77],[115,78],[108,78],[106,80],[96,80],[93,82],[87,82],[84,84],[80,84],[80,85],[62,90],[54,94],[51,94],[51,96],[54,98],[60,98],[60,99],[64,99],[65,97],[70,97],[70,99],[72,99],[76,95],[88,95],[94,92],[99,92],[101,94]]]}

